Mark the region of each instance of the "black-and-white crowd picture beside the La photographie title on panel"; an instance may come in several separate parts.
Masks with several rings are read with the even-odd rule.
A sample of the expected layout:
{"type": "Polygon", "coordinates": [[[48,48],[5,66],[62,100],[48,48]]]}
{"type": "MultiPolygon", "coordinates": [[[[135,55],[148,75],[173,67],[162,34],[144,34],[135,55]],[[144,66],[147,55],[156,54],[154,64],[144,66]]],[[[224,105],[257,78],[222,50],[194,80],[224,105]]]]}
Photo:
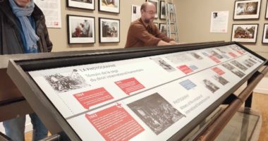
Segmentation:
{"type": "Polygon", "coordinates": [[[73,69],[70,73],[55,73],[45,75],[44,78],[56,92],[68,92],[88,86],[85,79],[77,72],[76,69],[73,69]]]}

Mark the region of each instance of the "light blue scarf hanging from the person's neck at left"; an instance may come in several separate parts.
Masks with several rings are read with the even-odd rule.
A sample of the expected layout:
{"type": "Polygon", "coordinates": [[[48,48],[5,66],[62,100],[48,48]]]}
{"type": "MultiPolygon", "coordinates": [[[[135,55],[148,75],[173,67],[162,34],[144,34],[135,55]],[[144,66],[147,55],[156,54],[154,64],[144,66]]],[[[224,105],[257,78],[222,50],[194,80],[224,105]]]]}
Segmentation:
{"type": "Polygon", "coordinates": [[[32,11],[35,8],[35,3],[33,0],[30,1],[30,4],[25,8],[17,6],[14,0],[9,0],[13,13],[20,20],[20,24],[23,28],[23,34],[26,40],[26,52],[37,52],[37,41],[39,37],[35,34],[35,30],[32,28],[29,19],[27,16],[32,15],[32,11]]]}

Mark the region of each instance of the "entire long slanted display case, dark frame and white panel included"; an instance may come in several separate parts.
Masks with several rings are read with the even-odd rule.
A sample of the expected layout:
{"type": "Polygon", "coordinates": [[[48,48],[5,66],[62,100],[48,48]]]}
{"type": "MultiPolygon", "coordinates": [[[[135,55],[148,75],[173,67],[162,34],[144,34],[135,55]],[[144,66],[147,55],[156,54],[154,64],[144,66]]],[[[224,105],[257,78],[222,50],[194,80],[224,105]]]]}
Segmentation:
{"type": "Polygon", "coordinates": [[[252,79],[230,106],[245,102],[263,73],[267,59],[237,42],[76,51],[8,63],[8,75],[51,133],[70,140],[182,140],[252,79]]]}

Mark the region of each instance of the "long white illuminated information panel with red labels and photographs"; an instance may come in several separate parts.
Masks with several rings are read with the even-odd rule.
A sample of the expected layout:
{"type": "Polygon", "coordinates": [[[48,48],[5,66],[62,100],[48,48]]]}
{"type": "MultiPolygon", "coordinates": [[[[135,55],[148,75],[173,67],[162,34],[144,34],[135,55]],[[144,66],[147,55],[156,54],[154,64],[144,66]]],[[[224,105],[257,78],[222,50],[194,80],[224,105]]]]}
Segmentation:
{"type": "Polygon", "coordinates": [[[81,140],[168,140],[262,63],[231,44],[29,74],[81,140]]]}

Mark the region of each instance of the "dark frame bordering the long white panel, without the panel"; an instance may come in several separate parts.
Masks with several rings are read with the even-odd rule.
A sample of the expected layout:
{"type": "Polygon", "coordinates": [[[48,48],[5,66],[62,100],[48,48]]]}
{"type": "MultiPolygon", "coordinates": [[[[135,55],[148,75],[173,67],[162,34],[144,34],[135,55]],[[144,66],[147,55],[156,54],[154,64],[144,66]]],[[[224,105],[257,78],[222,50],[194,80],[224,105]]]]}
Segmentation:
{"type": "Polygon", "coordinates": [[[20,92],[29,102],[32,109],[37,113],[39,118],[42,119],[47,128],[52,134],[64,131],[71,140],[81,140],[80,137],[75,133],[73,128],[68,122],[61,116],[56,107],[50,102],[45,96],[44,92],[35,83],[34,80],[28,74],[28,71],[37,71],[49,68],[60,68],[64,66],[78,66],[90,63],[101,63],[106,61],[119,61],[125,59],[135,59],[145,56],[153,56],[159,54],[169,54],[180,51],[190,51],[196,49],[208,49],[213,47],[221,47],[231,44],[237,44],[239,47],[250,52],[250,54],[264,61],[254,71],[249,73],[245,78],[240,80],[234,85],[228,92],[222,95],[221,98],[217,99],[214,104],[210,105],[200,115],[196,116],[190,123],[185,125],[182,130],[178,130],[169,140],[181,140],[187,135],[190,130],[195,128],[207,115],[211,114],[214,109],[224,102],[224,99],[233,94],[241,85],[243,85],[249,78],[252,77],[262,66],[267,65],[267,59],[256,54],[254,51],[243,47],[238,42],[212,42],[212,43],[197,43],[197,44],[181,44],[166,47],[145,47],[145,48],[130,48],[130,49],[105,49],[99,51],[71,51],[63,52],[59,54],[47,54],[42,58],[28,57],[28,59],[11,59],[8,63],[8,75],[14,81],[20,92]],[[42,110],[40,110],[42,109],[42,110]]]}

